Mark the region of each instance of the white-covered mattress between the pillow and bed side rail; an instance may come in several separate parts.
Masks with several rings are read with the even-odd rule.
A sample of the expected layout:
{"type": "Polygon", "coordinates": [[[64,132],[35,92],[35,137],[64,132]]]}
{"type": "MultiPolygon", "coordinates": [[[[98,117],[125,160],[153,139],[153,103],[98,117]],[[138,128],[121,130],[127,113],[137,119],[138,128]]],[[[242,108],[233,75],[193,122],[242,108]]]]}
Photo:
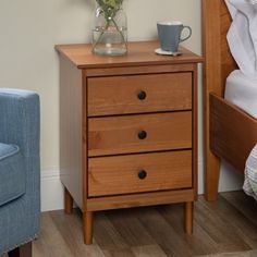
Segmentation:
{"type": "Polygon", "coordinates": [[[227,78],[224,98],[257,119],[257,76],[233,71],[227,78]]]}

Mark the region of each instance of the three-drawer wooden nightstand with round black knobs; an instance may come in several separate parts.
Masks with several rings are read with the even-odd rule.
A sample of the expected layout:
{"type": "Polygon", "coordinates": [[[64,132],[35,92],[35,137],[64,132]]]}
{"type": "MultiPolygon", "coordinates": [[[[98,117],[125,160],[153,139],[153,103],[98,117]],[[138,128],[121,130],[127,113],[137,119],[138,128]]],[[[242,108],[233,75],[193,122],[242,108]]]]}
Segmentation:
{"type": "Polygon", "coordinates": [[[90,45],[60,53],[60,163],[65,212],[83,211],[84,241],[93,212],[185,203],[193,231],[197,199],[197,63],[157,56],[158,42],[131,42],[123,57],[91,53],[90,45]]]}

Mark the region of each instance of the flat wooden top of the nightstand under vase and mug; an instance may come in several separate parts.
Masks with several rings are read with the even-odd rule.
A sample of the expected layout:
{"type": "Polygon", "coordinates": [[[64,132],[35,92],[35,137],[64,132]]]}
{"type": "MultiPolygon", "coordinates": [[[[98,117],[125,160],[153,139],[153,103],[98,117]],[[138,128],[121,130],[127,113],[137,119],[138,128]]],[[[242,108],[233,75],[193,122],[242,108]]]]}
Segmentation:
{"type": "Polygon", "coordinates": [[[171,57],[155,53],[155,49],[158,47],[158,41],[128,42],[127,54],[121,57],[94,54],[91,53],[90,44],[58,45],[56,49],[78,69],[203,62],[201,57],[185,48],[180,48],[180,51],[183,52],[182,56],[171,57]]]}

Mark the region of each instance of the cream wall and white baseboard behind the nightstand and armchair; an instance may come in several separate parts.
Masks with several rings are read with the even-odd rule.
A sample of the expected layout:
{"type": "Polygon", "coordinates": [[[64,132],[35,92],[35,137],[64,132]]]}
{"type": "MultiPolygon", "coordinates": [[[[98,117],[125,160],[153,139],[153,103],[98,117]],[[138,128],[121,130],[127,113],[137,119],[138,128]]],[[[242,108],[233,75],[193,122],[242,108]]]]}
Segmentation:
{"type": "MultiPolygon", "coordinates": [[[[123,5],[128,40],[155,39],[157,21],[181,20],[193,29],[192,38],[184,45],[200,53],[200,0],[124,0],[123,5]]],[[[59,63],[54,45],[90,42],[94,9],[94,0],[0,1],[0,86],[33,89],[40,95],[44,210],[62,207],[59,63]]],[[[201,147],[199,171],[199,181],[203,181],[201,147]]],[[[199,186],[203,192],[201,183],[199,186]]]]}

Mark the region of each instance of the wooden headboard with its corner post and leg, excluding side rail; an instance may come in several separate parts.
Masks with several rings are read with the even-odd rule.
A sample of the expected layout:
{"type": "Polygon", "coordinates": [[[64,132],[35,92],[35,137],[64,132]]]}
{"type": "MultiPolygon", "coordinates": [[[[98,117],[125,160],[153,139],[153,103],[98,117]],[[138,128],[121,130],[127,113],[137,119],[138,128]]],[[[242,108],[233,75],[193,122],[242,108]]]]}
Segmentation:
{"type": "Polygon", "coordinates": [[[217,198],[220,173],[220,161],[210,150],[209,94],[223,96],[225,78],[236,69],[227,42],[230,24],[231,17],[224,0],[203,0],[205,194],[208,200],[217,198]]]}

